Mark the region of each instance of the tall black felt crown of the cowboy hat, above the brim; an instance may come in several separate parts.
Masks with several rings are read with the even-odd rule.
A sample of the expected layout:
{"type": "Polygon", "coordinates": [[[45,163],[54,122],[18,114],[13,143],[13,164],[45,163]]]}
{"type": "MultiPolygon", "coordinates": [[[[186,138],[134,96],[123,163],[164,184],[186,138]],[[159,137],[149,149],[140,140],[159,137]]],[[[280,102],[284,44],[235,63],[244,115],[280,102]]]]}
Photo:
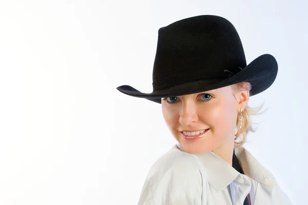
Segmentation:
{"type": "Polygon", "coordinates": [[[246,58],[232,23],[215,15],[185,18],[158,31],[153,91],[189,81],[225,79],[239,67],[246,67],[246,58]]]}

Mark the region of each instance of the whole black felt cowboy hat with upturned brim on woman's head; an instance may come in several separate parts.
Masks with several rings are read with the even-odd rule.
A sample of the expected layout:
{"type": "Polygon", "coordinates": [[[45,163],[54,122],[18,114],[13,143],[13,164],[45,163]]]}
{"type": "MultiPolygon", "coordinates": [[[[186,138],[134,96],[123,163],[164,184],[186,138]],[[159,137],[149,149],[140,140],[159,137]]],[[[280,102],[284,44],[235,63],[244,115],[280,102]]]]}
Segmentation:
{"type": "Polygon", "coordinates": [[[161,104],[172,97],[213,90],[242,81],[252,84],[251,95],[269,88],[277,76],[274,56],[263,54],[246,64],[241,39],[225,18],[199,15],[158,30],[153,65],[153,92],[123,85],[117,89],[133,97],[161,104]]]}

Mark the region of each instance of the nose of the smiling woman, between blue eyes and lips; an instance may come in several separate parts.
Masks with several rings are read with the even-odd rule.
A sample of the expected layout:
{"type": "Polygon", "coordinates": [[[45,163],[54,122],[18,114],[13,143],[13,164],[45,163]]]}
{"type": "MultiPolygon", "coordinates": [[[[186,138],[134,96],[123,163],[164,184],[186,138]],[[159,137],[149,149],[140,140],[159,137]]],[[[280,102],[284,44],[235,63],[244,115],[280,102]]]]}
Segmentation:
{"type": "Polygon", "coordinates": [[[193,103],[189,103],[188,101],[182,101],[182,110],[180,112],[179,121],[183,125],[183,127],[187,127],[190,124],[194,124],[194,122],[198,121],[199,117],[197,115],[196,106],[193,103]]]}

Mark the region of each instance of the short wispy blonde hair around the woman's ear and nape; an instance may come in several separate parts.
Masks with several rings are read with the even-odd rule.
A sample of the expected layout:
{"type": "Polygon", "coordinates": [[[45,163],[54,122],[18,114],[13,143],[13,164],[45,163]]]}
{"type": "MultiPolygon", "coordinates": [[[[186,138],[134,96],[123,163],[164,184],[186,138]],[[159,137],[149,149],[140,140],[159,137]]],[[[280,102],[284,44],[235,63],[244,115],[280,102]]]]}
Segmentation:
{"type": "MultiPolygon", "coordinates": [[[[249,91],[249,96],[251,96],[251,89],[252,89],[252,85],[246,81],[241,82],[241,83],[237,83],[234,85],[231,85],[234,94],[236,92],[245,90],[245,91],[249,91]]],[[[267,109],[265,109],[263,112],[258,113],[261,108],[263,107],[264,102],[262,105],[260,105],[259,107],[253,108],[253,107],[249,107],[248,105],[245,107],[245,109],[242,111],[242,128],[239,128],[241,121],[239,119],[239,115],[240,112],[238,113],[237,116],[237,120],[236,120],[236,126],[238,129],[238,132],[236,133],[236,137],[235,137],[235,147],[241,147],[242,145],[244,145],[245,141],[246,141],[246,136],[249,132],[256,132],[256,130],[252,127],[252,124],[255,124],[255,122],[251,121],[251,116],[252,115],[259,115],[262,114],[263,112],[265,112],[267,109]]]]}

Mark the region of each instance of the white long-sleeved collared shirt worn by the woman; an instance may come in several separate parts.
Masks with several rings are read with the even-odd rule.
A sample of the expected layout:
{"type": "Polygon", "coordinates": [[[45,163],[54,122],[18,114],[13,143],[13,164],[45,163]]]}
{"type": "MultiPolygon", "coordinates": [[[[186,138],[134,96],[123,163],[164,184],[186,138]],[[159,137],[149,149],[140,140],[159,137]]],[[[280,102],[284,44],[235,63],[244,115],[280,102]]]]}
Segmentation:
{"type": "Polygon", "coordinates": [[[235,148],[241,174],[214,152],[189,154],[177,144],[150,168],[138,205],[290,205],[271,172],[244,147],[235,148]]]}

